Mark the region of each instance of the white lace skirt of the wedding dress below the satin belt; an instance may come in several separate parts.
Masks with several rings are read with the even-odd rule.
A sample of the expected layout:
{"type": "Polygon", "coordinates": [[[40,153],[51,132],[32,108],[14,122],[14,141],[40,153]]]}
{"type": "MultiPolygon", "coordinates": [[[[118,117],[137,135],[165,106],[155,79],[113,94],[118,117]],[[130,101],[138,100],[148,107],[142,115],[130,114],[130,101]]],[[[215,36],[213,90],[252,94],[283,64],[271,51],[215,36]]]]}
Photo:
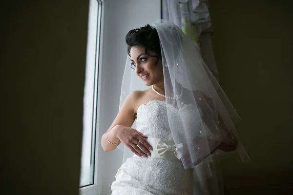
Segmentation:
{"type": "Polygon", "coordinates": [[[112,195],[192,195],[192,170],[180,161],[131,157],[111,185],[112,195]]]}

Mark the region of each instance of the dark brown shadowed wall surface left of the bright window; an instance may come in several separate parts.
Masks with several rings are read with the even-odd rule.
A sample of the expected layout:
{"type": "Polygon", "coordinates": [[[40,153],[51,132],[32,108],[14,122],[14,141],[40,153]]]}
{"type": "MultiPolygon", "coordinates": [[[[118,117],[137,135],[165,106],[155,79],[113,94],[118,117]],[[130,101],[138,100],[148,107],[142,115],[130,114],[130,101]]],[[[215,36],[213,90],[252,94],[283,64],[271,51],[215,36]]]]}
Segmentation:
{"type": "Polygon", "coordinates": [[[88,1],[7,3],[0,194],[77,195],[88,1]]]}

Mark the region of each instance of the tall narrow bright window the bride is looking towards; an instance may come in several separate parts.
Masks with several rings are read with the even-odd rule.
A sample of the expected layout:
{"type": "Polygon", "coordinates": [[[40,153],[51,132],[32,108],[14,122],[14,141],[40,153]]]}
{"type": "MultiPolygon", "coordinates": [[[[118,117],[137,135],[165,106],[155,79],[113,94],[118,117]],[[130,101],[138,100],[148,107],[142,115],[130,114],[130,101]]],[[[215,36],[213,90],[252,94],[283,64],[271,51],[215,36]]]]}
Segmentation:
{"type": "Polygon", "coordinates": [[[92,194],[93,190],[97,189],[97,177],[95,176],[97,173],[96,133],[103,10],[103,0],[89,0],[84,86],[84,132],[80,176],[80,193],[82,195],[92,194]]]}

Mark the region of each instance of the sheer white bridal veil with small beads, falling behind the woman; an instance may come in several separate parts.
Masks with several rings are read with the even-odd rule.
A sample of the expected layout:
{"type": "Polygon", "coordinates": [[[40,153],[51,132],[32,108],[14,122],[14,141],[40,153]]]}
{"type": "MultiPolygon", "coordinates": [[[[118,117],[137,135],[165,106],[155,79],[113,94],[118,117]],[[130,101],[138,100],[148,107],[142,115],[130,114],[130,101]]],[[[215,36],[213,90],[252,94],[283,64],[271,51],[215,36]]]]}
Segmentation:
{"type": "MultiPolygon", "coordinates": [[[[243,162],[250,160],[235,130],[240,117],[203,61],[196,43],[170,21],[158,20],[151,26],[160,38],[165,95],[173,97],[166,99],[168,123],[175,144],[184,145],[181,161],[185,169],[193,169],[193,194],[221,194],[223,186],[216,162],[229,153],[217,150],[220,143],[236,144],[232,153],[238,153],[243,162]]],[[[128,56],[120,106],[132,91],[149,87],[131,69],[128,56]]],[[[124,152],[124,161],[133,156],[126,146],[120,144],[118,148],[124,152]]]]}

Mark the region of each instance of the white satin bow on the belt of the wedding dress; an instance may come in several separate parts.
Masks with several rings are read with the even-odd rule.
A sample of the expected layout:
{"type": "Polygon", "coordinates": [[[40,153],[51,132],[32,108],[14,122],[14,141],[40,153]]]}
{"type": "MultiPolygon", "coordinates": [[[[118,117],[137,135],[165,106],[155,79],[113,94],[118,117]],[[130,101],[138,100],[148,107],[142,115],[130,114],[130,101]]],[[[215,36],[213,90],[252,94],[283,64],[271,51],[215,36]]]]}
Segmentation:
{"type": "Polygon", "coordinates": [[[160,156],[165,155],[167,152],[174,152],[174,155],[180,160],[183,154],[183,144],[167,145],[162,139],[157,143],[157,151],[160,156]]]}

